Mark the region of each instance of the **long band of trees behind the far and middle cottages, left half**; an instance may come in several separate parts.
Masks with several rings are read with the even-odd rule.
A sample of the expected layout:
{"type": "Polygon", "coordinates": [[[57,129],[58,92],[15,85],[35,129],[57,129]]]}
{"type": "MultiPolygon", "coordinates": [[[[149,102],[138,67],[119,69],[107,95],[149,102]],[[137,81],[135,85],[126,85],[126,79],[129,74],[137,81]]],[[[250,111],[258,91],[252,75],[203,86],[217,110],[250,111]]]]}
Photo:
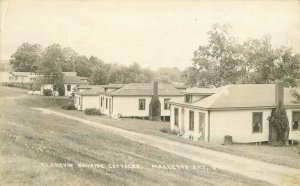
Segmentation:
{"type": "Polygon", "coordinates": [[[91,84],[146,83],[154,79],[160,82],[181,82],[177,67],[156,71],[142,68],[134,62],[129,66],[105,63],[95,56],[79,55],[70,47],[53,44],[45,49],[39,44],[24,43],[12,54],[10,64],[18,72],[70,72],[87,77],[91,84]]]}

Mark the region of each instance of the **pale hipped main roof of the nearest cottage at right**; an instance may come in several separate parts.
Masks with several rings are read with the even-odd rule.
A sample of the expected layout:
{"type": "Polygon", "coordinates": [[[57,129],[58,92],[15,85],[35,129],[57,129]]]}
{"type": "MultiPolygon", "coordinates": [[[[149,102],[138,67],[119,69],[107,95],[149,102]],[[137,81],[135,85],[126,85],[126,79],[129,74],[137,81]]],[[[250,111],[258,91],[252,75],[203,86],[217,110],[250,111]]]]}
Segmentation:
{"type": "MultiPolygon", "coordinates": [[[[284,88],[284,105],[292,103],[291,88],[284,88]]],[[[276,107],[274,84],[227,85],[217,89],[216,93],[193,103],[172,102],[205,109],[276,107]]],[[[300,106],[300,105],[299,105],[300,106]]]]}

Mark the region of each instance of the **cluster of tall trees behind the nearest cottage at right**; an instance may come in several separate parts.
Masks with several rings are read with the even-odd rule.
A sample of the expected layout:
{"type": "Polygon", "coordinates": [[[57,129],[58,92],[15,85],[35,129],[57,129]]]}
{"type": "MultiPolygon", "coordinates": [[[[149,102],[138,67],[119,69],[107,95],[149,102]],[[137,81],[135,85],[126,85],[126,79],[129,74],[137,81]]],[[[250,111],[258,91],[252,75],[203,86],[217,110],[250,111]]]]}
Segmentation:
{"type": "Polygon", "coordinates": [[[238,42],[228,24],[214,24],[208,44],[199,46],[193,65],[183,72],[191,87],[220,87],[227,84],[268,84],[276,79],[285,86],[299,83],[300,55],[290,47],[273,47],[271,37],[238,42]]]}

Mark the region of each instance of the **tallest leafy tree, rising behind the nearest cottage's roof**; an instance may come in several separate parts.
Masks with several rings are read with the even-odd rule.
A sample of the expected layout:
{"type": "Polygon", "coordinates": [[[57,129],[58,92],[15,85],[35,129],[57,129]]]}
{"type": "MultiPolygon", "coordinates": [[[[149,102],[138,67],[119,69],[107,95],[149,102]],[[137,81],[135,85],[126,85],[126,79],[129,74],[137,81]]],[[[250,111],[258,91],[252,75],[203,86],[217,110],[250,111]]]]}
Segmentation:
{"type": "Polygon", "coordinates": [[[208,32],[208,45],[194,52],[193,66],[184,72],[187,84],[212,87],[239,80],[241,46],[230,35],[230,29],[230,25],[213,25],[208,32]]]}

